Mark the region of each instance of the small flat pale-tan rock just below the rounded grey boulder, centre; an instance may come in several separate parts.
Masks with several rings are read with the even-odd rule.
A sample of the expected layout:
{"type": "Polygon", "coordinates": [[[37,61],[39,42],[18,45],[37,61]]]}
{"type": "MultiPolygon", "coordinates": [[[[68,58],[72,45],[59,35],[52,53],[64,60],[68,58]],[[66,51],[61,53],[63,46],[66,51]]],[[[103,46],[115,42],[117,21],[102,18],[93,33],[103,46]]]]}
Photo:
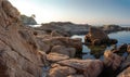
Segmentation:
{"type": "Polygon", "coordinates": [[[47,55],[47,60],[50,62],[58,62],[58,61],[68,60],[68,59],[69,56],[60,54],[60,53],[49,53],[47,55]]]}

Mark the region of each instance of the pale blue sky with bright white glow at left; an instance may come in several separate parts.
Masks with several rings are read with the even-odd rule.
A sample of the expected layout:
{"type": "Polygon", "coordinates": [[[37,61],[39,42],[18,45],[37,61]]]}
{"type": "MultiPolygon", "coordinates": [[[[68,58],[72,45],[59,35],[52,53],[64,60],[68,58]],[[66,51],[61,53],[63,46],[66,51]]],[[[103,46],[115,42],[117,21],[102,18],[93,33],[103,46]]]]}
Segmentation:
{"type": "Polygon", "coordinates": [[[40,23],[130,24],[130,0],[9,0],[21,14],[40,23]]]}

